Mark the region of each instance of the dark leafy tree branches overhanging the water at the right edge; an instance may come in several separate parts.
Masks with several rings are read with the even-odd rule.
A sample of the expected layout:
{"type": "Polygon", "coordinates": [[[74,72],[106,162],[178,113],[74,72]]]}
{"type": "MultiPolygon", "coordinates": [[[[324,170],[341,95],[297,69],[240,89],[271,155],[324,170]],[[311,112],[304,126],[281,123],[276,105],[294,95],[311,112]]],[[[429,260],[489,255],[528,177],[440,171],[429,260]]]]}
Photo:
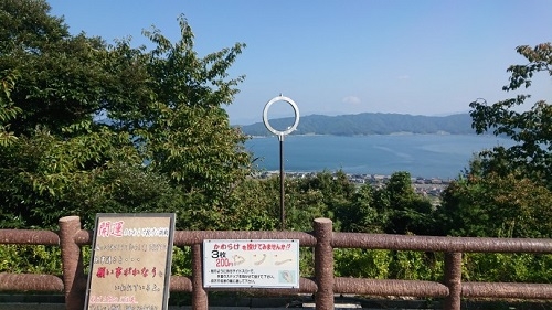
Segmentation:
{"type": "MultiPolygon", "coordinates": [[[[551,43],[534,47],[522,45],[516,50],[528,63],[508,68],[510,83],[502,87],[503,90],[530,87],[538,73],[552,76],[551,43]]],[[[510,148],[499,146],[482,151],[481,169],[485,174],[506,177],[513,173],[552,189],[552,106],[538,100],[529,110],[520,111],[519,107],[530,97],[520,94],[492,105],[487,105],[484,99],[470,104],[473,127],[477,133],[492,130],[493,135],[510,137],[516,142],[510,148]]]]}

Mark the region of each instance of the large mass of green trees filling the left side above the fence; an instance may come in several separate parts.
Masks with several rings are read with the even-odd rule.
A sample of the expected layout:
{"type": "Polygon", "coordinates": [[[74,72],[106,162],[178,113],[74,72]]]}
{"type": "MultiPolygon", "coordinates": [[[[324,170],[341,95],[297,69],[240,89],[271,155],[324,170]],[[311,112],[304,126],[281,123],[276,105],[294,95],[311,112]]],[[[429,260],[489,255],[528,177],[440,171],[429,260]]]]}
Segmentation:
{"type": "Polygon", "coordinates": [[[176,43],[145,31],[146,51],[73,36],[43,0],[0,2],[0,72],[19,73],[2,77],[1,225],[162,210],[180,227],[217,228],[240,211],[231,197],[251,158],[223,106],[243,81],[226,71],[244,44],[199,57],[179,23],[176,43]]]}

